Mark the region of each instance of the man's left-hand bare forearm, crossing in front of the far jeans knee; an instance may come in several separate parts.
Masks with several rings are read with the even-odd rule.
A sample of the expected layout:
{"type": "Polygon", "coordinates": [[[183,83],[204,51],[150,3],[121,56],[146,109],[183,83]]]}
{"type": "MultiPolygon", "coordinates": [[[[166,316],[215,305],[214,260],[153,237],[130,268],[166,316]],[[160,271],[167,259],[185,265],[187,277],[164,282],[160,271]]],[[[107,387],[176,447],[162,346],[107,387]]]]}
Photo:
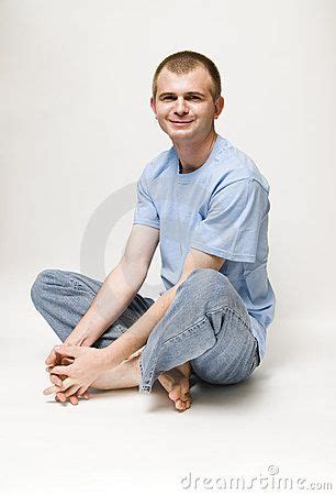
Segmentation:
{"type": "Polygon", "coordinates": [[[139,266],[126,266],[123,262],[116,265],[65,343],[92,345],[124,312],[145,277],[146,274],[139,266]]]}

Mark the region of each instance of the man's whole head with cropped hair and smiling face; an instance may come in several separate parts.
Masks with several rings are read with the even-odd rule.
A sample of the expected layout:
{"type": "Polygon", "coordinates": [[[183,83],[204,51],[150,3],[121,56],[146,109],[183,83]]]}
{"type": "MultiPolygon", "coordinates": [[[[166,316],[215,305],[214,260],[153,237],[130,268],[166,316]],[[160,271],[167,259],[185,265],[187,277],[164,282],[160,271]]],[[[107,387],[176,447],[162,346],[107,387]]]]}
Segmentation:
{"type": "Polygon", "coordinates": [[[169,55],[155,72],[150,106],[171,140],[204,139],[224,107],[216,66],[195,52],[169,55]]]}

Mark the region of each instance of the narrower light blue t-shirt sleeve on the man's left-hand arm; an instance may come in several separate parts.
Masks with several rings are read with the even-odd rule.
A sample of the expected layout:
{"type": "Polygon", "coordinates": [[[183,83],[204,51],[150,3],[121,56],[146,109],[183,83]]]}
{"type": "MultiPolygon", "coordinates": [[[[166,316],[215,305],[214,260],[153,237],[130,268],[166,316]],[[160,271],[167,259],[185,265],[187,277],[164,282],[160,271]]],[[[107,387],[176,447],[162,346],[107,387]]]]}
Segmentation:
{"type": "Polygon", "coordinates": [[[141,223],[143,226],[159,229],[159,216],[148,190],[146,172],[147,167],[145,167],[136,184],[137,204],[134,211],[133,223],[141,223]]]}

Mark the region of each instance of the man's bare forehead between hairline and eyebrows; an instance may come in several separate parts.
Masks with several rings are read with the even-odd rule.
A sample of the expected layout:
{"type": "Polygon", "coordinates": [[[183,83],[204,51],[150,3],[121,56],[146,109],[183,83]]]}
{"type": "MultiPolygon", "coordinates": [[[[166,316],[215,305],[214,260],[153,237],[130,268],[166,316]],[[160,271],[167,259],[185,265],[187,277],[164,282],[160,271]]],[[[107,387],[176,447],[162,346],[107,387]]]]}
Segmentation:
{"type": "Polygon", "coordinates": [[[202,67],[195,67],[187,74],[175,74],[164,67],[157,78],[157,95],[161,92],[188,92],[199,91],[211,95],[212,79],[209,72],[202,67]]]}

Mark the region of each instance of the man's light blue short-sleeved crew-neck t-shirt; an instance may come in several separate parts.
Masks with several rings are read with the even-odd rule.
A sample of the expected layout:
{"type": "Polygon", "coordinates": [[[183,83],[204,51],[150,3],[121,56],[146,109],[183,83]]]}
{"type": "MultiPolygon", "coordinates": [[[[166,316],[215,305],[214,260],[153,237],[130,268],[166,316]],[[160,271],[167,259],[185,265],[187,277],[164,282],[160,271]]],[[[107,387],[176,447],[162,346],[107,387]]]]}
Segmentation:
{"type": "Polygon", "coordinates": [[[160,230],[166,290],[179,280],[190,248],[225,258],[221,273],[246,306],[260,361],[276,307],[267,275],[269,189],[253,160],[217,134],[194,172],[179,173],[175,146],[145,166],[133,222],[160,230]]]}

